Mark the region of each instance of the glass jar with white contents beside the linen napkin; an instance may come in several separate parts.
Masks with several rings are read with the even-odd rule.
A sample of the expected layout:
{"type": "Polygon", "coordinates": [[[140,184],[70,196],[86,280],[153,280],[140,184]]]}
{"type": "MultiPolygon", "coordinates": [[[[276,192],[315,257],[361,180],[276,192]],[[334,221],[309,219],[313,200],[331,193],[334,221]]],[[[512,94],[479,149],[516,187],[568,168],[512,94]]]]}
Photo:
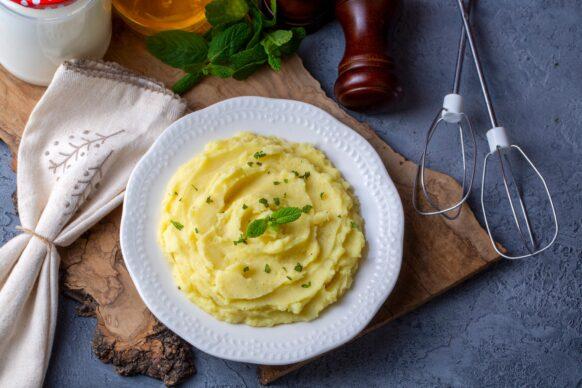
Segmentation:
{"type": "Polygon", "coordinates": [[[111,0],[44,8],[0,0],[0,64],[26,82],[48,85],[67,59],[101,59],[110,40],[111,0]]]}

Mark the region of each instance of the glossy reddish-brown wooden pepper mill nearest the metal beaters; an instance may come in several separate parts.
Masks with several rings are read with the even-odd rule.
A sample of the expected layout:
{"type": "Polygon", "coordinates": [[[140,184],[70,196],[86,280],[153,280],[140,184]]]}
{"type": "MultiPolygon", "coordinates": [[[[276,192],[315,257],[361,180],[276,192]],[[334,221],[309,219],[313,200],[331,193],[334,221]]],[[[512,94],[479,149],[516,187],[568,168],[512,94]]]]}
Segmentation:
{"type": "Polygon", "coordinates": [[[346,49],[338,67],[334,92],[346,108],[364,112],[393,110],[402,87],[387,54],[388,20],[395,0],[337,0],[336,16],[346,49]]]}

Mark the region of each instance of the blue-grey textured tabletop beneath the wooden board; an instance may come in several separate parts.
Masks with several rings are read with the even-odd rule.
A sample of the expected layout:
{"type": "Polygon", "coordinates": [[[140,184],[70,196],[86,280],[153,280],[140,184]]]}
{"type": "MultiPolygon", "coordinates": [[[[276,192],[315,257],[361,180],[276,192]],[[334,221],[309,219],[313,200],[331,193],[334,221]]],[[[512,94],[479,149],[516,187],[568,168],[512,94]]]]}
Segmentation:
{"type": "MultiPolygon", "coordinates": [[[[450,88],[459,20],[452,0],[402,3],[394,52],[409,95],[407,109],[357,117],[416,159],[428,122],[450,88]]],[[[558,241],[539,257],[493,266],[277,385],[582,384],[582,3],[482,0],[475,23],[499,119],[537,161],[552,188],[561,221],[558,241]]],[[[342,52],[337,24],[309,37],[301,49],[305,65],[328,95],[342,52]]],[[[466,110],[479,133],[481,157],[488,124],[472,63],[464,75],[466,110]]],[[[455,165],[452,149],[440,145],[439,165],[455,165]]],[[[14,235],[18,224],[9,161],[7,147],[0,144],[0,241],[14,235]]],[[[470,203],[477,210],[477,195],[470,203]]],[[[90,344],[95,322],[76,317],[74,307],[61,298],[48,386],[161,385],[147,377],[119,377],[98,361],[90,344]]],[[[186,386],[257,385],[254,365],[199,351],[195,358],[198,374],[186,386]]]]}

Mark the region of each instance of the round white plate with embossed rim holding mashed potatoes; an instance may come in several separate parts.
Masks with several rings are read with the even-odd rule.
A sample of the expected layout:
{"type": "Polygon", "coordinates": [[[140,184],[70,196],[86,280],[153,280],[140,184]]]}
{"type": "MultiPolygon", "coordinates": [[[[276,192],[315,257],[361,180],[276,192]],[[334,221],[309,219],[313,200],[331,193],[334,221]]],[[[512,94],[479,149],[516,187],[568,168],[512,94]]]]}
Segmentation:
{"type": "Polygon", "coordinates": [[[145,304],[177,335],[217,357],[282,365],[342,345],[370,322],[398,278],[403,231],[402,204],[396,188],[380,157],[363,137],[309,104],[239,97],[176,121],[141,159],[125,193],[121,249],[145,304]],[[311,322],[270,328],[221,322],[177,289],[158,246],[160,207],[171,176],[209,141],[239,131],[314,144],[353,185],[360,200],[367,255],[352,288],[311,322]]]}

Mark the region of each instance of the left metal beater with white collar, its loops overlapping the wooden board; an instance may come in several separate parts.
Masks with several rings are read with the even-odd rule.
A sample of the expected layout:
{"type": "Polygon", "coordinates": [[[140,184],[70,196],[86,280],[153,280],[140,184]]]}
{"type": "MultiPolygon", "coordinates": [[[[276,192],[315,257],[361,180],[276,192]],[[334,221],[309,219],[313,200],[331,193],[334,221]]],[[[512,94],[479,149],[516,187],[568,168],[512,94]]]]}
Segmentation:
{"type": "MultiPolygon", "coordinates": [[[[469,0],[467,5],[467,12],[471,12],[471,5],[472,0],[469,0]]],[[[463,112],[463,97],[459,94],[459,89],[461,86],[461,73],[463,70],[463,60],[465,57],[465,28],[464,26],[461,28],[461,37],[459,39],[459,47],[457,50],[457,63],[455,65],[455,78],[453,82],[453,90],[450,94],[447,94],[443,101],[443,107],[437,112],[436,116],[434,117],[431,126],[426,134],[426,139],[424,143],[424,150],[418,162],[418,170],[416,172],[416,176],[414,178],[414,185],[412,191],[412,204],[414,209],[425,216],[432,216],[432,215],[442,215],[443,217],[454,220],[461,214],[461,209],[463,203],[469,197],[471,193],[471,188],[473,187],[473,180],[475,178],[475,167],[477,165],[477,141],[475,140],[475,133],[473,132],[473,128],[471,127],[471,122],[469,118],[463,112]],[[447,204],[443,207],[439,207],[437,201],[433,199],[433,196],[429,193],[427,184],[425,182],[425,174],[424,170],[427,164],[427,155],[429,150],[429,145],[431,140],[433,139],[434,134],[436,133],[437,129],[441,128],[442,125],[448,126],[447,124],[456,125],[459,130],[459,140],[460,140],[460,149],[461,149],[461,156],[463,162],[463,178],[461,182],[461,198],[453,203],[447,204]],[[467,166],[467,148],[465,146],[465,134],[468,134],[470,139],[472,140],[473,146],[473,158],[472,164],[470,167],[467,166]],[[421,209],[421,205],[419,203],[418,198],[418,185],[420,183],[421,192],[424,196],[424,199],[430,207],[430,210],[423,210],[421,209]],[[449,212],[453,212],[449,214],[449,212]]]]}

